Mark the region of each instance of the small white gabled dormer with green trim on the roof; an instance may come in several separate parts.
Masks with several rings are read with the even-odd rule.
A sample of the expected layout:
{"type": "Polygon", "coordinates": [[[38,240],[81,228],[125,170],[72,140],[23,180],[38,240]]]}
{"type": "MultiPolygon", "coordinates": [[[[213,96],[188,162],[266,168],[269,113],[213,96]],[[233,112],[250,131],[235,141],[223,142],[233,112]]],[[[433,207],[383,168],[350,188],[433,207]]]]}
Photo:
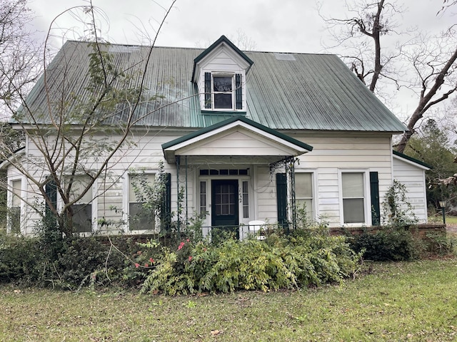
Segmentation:
{"type": "Polygon", "coordinates": [[[253,61],[221,36],[194,59],[192,82],[202,113],[246,113],[246,73],[253,61]]]}

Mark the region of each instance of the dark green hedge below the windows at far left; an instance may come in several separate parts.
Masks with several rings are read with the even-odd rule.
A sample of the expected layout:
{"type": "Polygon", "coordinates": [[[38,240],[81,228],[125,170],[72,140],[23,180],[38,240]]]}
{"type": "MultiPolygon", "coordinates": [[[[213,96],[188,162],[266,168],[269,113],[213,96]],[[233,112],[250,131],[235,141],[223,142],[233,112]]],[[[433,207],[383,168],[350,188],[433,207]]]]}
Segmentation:
{"type": "Polygon", "coordinates": [[[0,281],[76,290],[81,286],[121,284],[124,254],[133,242],[116,239],[112,249],[97,237],[45,240],[0,232],[0,281]],[[54,246],[49,242],[54,241],[54,246]]]}

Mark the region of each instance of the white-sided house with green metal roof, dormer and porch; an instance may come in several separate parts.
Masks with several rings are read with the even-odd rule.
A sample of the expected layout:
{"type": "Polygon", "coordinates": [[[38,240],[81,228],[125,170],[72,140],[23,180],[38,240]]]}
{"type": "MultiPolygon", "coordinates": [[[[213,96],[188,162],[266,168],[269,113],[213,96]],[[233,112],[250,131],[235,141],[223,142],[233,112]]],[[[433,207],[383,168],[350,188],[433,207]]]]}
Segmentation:
{"type": "MultiPolygon", "coordinates": [[[[180,226],[195,212],[207,212],[204,234],[221,226],[242,232],[258,221],[293,224],[296,207],[303,205],[310,219],[325,219],[330,227],[378,225],[394,179],[411,190],[414,213],[426,222],[427,166],[393,152],[393,135],[405,126],[337,56],[243,52],[225,36],[206,49],[154,47],[149,55],[147,46],[101,44],[101,50],[119,70],[130,71],[148,58],[151,63],[128,78],[129,87],[144,82],[146,98],[130,111],[118,103],[103,119],[106,130],[90,135],[89,155],[75,177],[94,181],[84,194],[73,188],[80,232],[159,229],[158,217],[129,220],[141,211],[132,181],[138,170],[151,181],[166,175],[161,208],[179,211],[171,220],[180,226]],[[97,144],[120,140],[126,120],[134,122],[128,147],[94,176],[90,170],[101,163],[97,153],[109,151],[97,144]]],[[[19,116],[13,127],[58,125],[64,119],[52,113],[64,105],[84,113],[79,108],[94,92],[88,76],[93,53],[91,43],[67,41],[26,100],[34,120],[19,116]]],[[[81,129],[81,123],[66,124],[64,132],[55,131],[60,138],[81,129]]],[[[62,152],[52,145],[56,139],[27,138],[24,150],[1,165],[8,173],[9,205],[21,215],[16,229],[24,234],[34,232],[40,210],[61,205],[59,191],[47,184],[40,192],[26,177],[49,177],[42,151],[62,152]],[[43,193],[49,194],[46,203],[43,193]]]]}

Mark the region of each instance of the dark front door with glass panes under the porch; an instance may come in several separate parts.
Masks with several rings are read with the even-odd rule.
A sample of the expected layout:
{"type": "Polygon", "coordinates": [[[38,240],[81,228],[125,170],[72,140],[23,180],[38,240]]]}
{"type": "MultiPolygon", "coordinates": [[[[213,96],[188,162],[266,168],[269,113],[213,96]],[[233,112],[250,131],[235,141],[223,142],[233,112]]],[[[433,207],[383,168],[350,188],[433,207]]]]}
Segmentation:
{"type": "Polygon", "coordinates": [[[212,180],[211,189],[211,227],[238,237],[238,180],[212,180]]]}

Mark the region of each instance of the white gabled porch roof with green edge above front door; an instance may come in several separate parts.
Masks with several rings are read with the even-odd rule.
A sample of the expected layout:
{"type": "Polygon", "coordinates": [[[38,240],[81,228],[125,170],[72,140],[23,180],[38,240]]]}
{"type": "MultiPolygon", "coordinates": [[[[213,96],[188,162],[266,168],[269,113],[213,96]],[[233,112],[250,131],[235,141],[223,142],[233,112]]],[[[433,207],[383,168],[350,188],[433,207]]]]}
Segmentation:
{"type": "Polygon", "coordinates": [[[162,145],[167,162],[176,156],[263,157],[277,162],[313,147],[264,125],[237,116],[184,135],[162,145]]]}

